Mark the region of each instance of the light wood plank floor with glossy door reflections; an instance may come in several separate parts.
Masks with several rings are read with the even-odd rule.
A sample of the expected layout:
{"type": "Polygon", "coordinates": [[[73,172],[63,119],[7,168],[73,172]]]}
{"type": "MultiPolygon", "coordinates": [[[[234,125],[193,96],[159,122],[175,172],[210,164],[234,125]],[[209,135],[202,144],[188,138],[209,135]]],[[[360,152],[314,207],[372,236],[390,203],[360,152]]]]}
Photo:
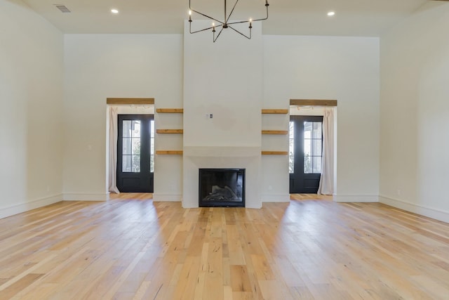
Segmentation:
{"type": "Polygon", "coordinates": [[[0,299],[449,299],[449,224],[383,204],[182,209],[151,195],[0,220],[0,299]]]}

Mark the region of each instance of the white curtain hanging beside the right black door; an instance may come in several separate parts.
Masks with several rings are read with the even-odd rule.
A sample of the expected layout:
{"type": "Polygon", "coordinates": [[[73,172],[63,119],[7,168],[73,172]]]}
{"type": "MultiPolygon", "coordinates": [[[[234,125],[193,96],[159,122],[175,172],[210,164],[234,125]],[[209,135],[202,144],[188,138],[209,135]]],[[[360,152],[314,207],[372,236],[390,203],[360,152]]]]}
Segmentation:
{"type": "Polygon", "coordinates": [[[319,195],[334,193],[334,110],[326,109],[323,116],[323,159],[319,195]]]}

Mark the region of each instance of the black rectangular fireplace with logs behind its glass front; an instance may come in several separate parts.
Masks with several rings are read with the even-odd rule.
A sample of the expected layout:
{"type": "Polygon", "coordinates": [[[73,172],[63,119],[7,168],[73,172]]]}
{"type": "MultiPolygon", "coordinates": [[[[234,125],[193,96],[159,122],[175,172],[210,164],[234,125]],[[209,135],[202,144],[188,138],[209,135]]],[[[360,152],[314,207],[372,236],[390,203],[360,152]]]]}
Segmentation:
{"type": "Polygon", "coordinates": [[[245,207],[245,169],[199,169],[199,207],[245,207]]]}

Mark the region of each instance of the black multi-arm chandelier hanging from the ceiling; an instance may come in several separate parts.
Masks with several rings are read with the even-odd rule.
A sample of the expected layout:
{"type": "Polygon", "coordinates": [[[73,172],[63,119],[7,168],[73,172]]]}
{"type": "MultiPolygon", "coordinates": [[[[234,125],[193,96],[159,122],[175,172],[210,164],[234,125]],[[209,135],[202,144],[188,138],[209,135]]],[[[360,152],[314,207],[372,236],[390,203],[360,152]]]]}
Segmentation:
{"type": "Polygon", "coordinates": [[[190,33],[197,33],[197,32],[203,32],[206,30],[212,30],[213,33],[213,42],[215,43],[215,41],[218,39],[218,37],[220,37],[220,34],[222,33],[222,31],[225,28],[231,28],[232,30],[234,30],[235,32],[243,35],[243,37],[246,37],[247,39],[251,39],[251,28],[253,28],[253,22],[256,21],[262,21],[262,20],[267,20],[268,19],[268,0],[265,0],[265,8],[267,9],[267,16],[265,18],[260,18],[260,19],[249,19],[249,20],[244,20],[244,21],[234,21],[234,22],[229,22],[229,19],[231,18],[232,13],[234,13],[234,8],[236,8],[236,5],[239,3],[239,0],[236,0],[236,3],[234,4],[234,6],[232,6],[232,10],[229,13],[229,15],[227,14],[227,5],[226,5],[226,0],[225,0],[225,18],[220,21],[216,18],[210,17],[208,15],[205,15],[204,13],[200,13],[199,11],[196,11],[192,8],[191,6],[191,0],[189,0],[189,32],[190,33]],[[203,17],[206,17],[210,20],[213,20],[215,22],[217,22],[217,25],[215,25],[215,22],[212,23],[212,26],[204,28],[202,30],[196,30],[194,32],[192,32],[192,12],[194,13],[198,13],[199,15],[203,15],[203,17]],[[249,28],[249,34],[243,34],[242,32],[239,32],[239,30],[236,30],[234,27],[232,27],[231,25],[234,24],[241,24],[241,23],[250,23],[248,28],[249,28]],[[221,28],[220,28],[221,27],[221,28]],[[215,37],[215,29],[220,28],[220,32],[218,32],[217,36],[215,37]]]}

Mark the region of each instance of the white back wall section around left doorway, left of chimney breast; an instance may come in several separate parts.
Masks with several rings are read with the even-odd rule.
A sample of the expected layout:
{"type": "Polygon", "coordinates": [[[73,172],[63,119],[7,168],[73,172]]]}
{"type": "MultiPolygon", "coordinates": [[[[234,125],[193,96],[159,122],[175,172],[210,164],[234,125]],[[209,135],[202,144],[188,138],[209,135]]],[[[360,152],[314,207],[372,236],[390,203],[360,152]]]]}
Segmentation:
{"type": "MultiPolygon", "coordinates": [[[[106,98],[182,107],[182,35],[66,34],[64,91],[64,197],[105,200],[106,98]]],[[[181,168],[156,159],[154,193],[180,194],[181,168]]]]}

